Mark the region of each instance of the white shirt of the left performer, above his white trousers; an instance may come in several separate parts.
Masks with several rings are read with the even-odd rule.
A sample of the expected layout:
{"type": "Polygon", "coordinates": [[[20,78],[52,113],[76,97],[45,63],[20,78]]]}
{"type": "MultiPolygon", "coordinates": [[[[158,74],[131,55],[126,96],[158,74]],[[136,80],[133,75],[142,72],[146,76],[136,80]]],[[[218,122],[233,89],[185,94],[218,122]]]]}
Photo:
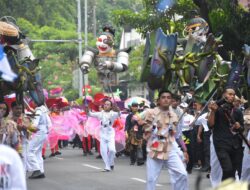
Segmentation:
{"type": "Polygon", "coordinates": [[[39,129],[37,133],[48,133],[49,127],[52,125],[49,117],[49,110],[44,105],[35,109],[35,118],[33,124],[39,129]]]}

